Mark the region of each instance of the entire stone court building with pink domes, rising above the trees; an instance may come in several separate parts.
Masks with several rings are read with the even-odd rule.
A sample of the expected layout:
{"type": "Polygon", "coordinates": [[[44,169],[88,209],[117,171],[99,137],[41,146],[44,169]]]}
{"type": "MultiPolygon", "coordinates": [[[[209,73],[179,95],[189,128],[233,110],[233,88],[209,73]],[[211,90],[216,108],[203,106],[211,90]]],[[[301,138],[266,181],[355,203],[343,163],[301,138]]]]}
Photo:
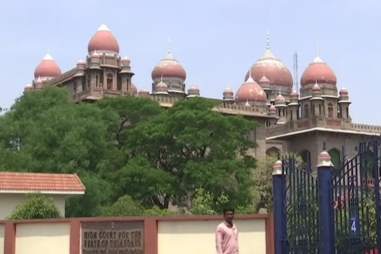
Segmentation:
{"type": "MultiPolygon", "coordinates": [[[[89,42],[86,61],[78,61],[75,68],[61,73],[48,54],[37,66],[35,79],[25,86],[25,91],[57,85],[67,87],[69,97],[75,101],[128,95],[149,97],[162,107],[200,96],[196,86],[186,90],[187,73],[173,57],[170,43],[167,55],[152,70],[152,92],[145,88],[138,92],[132,83],[133,75],[130,60],[119,56],[118,42],[102,25],[89,42]]],[[[334,149],[342,158],[344,145],[345,153],[353,156],[360,140],[381,133],[381,126],[352,123],[348,91],[342,88],[338,92],[336,83],[334,72],[317,50],[301,77],[300,95],[293,91],[292,76],[270,51],[267,35],[265,53],[249,69],[235,96],[226,88],[221,99],[216,99],[219,106],[213,110],[242,115],[259,124],[248,135],[258,144],[249,151],[256,158],[263,158],[266,153],[299,153],[305,160],[309,156],[315,167],[324,147],[327,151],[334,149]]]]}

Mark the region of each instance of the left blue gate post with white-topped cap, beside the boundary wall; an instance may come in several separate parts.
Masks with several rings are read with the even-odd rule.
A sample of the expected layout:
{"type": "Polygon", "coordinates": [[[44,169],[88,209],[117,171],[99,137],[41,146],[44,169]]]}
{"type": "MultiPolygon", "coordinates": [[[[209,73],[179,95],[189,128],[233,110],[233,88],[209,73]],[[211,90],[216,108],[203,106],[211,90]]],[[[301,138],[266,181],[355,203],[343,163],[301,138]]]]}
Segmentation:
{"type": "Polygon", "coordinates": [[[282,170],[282,162],[274,163],[272,173],[272,194],[274,206],[274,244],[275,254],[287,254],[286,250],[286,219],[284,214],[284,196],[285,196],[286,176],[282,170]]]}

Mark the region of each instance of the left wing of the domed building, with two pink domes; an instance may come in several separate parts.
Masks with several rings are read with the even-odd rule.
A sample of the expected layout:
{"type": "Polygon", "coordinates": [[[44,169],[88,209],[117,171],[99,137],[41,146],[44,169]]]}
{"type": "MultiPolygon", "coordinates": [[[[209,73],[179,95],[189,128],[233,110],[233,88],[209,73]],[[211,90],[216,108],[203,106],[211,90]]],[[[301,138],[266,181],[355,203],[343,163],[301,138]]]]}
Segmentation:
{"type": "Polygon", "coordinates": [[[60,67],[51,55],[47,54],[34,71],[44,85],[66,86],[75,100],[92,101],[103,96],[137,94],[131,78],[131,61],[119,56],[119,44],[110,29],[102,24],[90,38],[86,60],[79,60],[76,67],[61,73],[60,67]]]}

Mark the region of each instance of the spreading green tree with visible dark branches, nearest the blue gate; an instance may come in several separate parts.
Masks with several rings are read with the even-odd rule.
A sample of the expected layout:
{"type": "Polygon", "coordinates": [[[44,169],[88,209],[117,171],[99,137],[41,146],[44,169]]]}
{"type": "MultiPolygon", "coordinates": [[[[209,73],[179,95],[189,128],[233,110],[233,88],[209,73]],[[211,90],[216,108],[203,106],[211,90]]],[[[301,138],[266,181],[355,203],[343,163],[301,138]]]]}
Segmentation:
{"type": "Polygon", "coordinates": [[[213,106],[203,98],[182,100],[128,129],[130,161],[118,173],[132,182],[119,186],[133,185],[132,197],[161,208],[183,203],[200,187],[215,196],[224,191],[233,203],[249,202],[255,159],[247,150],[256,144],[246,134],[256,124],[213,112],[213,106]]]}

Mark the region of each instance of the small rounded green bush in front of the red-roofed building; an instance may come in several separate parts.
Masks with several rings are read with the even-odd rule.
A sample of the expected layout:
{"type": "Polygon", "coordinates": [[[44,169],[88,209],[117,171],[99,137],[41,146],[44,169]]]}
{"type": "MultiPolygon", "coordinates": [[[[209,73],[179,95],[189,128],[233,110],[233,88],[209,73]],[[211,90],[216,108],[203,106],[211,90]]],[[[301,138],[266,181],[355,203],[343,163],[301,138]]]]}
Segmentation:
{"type": "Polygon", "coordinates": [[[18,204],[6,219],[29,220],[61,218],[59,209],[53,203],[53,198],[42,194],[28,194],[27,197],[27,200],[18,204]]]}

